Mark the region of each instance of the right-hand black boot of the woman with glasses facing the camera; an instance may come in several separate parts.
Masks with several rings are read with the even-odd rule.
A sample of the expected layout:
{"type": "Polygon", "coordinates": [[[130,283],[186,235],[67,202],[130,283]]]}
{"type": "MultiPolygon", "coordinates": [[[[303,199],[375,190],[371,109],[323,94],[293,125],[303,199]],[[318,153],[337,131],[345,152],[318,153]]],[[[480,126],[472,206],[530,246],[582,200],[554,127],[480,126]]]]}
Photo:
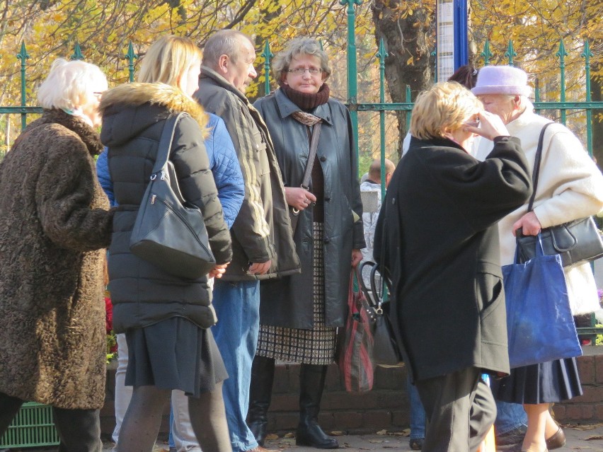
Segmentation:
{"type": "Polygon", "coordinates": [[[299,370],[299,425],[295,434],[297,446],[336,449],[339,443],[318,425],[318,411],[325,386],[327,366],[302,364],[299,370]]]}

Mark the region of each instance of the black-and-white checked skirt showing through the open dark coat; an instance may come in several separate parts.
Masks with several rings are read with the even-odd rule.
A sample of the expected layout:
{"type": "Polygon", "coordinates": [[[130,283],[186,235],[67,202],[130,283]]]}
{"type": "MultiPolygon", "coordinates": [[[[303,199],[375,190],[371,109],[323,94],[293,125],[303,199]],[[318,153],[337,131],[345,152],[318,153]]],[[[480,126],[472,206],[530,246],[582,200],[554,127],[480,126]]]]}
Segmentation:
{"type": "MultiPolygon", "coordinates": [[[[314,328],[299,330],[260,325],[258,354],[279,361],[328,366],[335,358],[337,328],[325,325],[325,274],[323,224],[313,224],[314,259],[312,262],[314,328]]],[[[303,271],[303,270],[302,270],[303,271]]]]}

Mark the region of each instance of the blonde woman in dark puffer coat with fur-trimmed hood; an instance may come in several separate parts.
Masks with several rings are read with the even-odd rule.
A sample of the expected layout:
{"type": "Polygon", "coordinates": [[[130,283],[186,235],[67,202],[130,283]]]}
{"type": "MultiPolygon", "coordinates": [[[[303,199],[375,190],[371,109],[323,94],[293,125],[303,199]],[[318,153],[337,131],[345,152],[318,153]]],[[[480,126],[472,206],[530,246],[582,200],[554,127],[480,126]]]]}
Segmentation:
{"type": "Polygon", "coordinates": [[[222,400],[228,375],[210,330],[216,317],[208,279],[222,276],[232,251],[202,142],[207,115],[191,97],[200,62],[201,51],[191,40],[163,36],[145,54],[139,83],[117,86],[101,101],[101,138],[119,205],[108,259],[113,327],[125,332],[125,384],[133,386],[117,444],[121,452],[151,450],[173,389],[188,395],[199,444],[207,451],[231,451],[222,400]],[[164,124],[179,112],[188,115],[176,124],[169,158],[183,197],[202,211],[217,262],[195,280],[167,274],[129,247],[164,124]]]}

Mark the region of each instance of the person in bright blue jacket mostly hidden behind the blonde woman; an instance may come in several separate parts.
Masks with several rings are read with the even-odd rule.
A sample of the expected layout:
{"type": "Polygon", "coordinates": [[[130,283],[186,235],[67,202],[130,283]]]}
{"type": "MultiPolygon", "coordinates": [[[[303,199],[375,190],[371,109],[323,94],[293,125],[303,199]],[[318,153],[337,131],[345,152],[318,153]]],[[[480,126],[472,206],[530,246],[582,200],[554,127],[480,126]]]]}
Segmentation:
{"type": "MultiPolygon", "coordinates": [[[[243,185],[243,175],[239,160],[236,158],[236,152],[226,125],[216,115],[208,114],[207,137],[204,141],[205,151],[209,158],[209,168],[212,170],[214,182],[218,190],[218,199],[222,204],[224,211],[224,221],[229,228],[234,223],[236,215],[239,213],[245,189],[243,185]]],[[[105,190],[111,206],[115,206],[113,197],[113,182],[109,174],[109,166],[106,149],[101,152],[96,160],[96,173],[101,187],[105,190]]],[[[125,334],[117,335],[117,371],[115,371],[115,429],[113,429],[113,442],[117,448],[117,441],[120,435],[120,429],[123,417],[130,405],[132,398],[132,387],[125,386],[125,373],[127,369],[127,342],[125,334]]],[[[195,432],[190,426],[190,417],[188,416],[188,398],[181,390],[172,390],[171,398],[171,420],[170,436],[171,448],[178,452],[200,451],[201,448],[197,442],[195,432]],[[176,411],[176,417],[173,412],[176,411]]]]}

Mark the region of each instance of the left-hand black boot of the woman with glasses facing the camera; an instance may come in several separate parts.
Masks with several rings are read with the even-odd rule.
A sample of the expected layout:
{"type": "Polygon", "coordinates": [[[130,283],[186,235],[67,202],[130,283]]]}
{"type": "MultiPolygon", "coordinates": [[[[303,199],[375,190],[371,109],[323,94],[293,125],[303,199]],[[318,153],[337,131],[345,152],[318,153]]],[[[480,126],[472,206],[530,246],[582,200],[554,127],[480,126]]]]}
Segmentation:
{"type": "Polygon", "coordinates": [[[268,426],[268,407],[272,396],[272,381],[275,377],[275,360],[272,358],[253,357],[251,364],[251,385],[249,386],[249,410],[247,425],[260,446],[266,439],[268,426]]]}

